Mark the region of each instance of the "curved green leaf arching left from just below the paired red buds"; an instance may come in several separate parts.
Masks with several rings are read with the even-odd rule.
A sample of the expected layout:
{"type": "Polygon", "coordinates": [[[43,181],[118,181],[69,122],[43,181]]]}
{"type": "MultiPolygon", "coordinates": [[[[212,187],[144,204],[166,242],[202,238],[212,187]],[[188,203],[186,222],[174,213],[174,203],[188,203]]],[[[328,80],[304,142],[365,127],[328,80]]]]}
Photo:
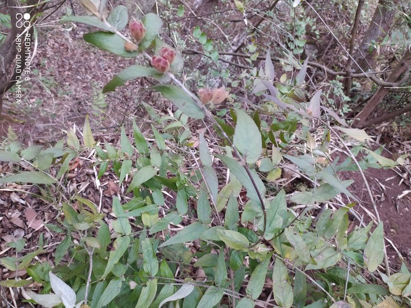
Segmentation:
{"type": "Polygon", "coordinates": [[[113,79],[104,86],[103,93],[115,91],[116,87],[123,86],[128,80],[147,76],[153,76],[155,79],[162,80],[162,74],[155,68],[145,67],[138,64],[129,66],[115,75],[113,79]]]}

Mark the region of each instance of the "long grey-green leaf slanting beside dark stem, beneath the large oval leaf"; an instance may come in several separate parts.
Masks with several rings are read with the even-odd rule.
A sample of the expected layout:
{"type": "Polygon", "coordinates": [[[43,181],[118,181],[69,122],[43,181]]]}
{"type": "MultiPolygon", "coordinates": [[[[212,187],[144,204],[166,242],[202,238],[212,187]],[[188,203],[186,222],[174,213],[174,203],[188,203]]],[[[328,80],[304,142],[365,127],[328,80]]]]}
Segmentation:
{"type": "MultiPolygon", "coordinates": [[[[232,159],[231,157],[217,154],[215,156],[227,165],[233,175],[238,179],[238,181],[240,181],[242,186],[247,189],[247,197],[254,200],[255,202],[259,202],[258,194],[244,167],[242,167],[236,160],[232,159]]],[[[263,181],[261,181],[256,172],[251,172],[251,174],[254,182],[256,183],[258,191],[260,192],[261,196],[264,196],[266,187],[264,186],[263,181]]]]}

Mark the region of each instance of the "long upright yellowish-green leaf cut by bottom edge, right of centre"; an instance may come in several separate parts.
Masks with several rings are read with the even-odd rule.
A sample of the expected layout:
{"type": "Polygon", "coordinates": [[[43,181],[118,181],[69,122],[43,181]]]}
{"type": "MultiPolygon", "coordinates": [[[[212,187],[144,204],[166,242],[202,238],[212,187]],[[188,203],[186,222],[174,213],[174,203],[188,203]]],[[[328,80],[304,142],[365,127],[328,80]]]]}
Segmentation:
{"type": "Polygon", "coordinates": [[[288,282],[287,267],[279,258],[275,259],[272,280],[273,296],[276,303],[282,307],[290,308],[293,301],[292,288],[288,282]]]}

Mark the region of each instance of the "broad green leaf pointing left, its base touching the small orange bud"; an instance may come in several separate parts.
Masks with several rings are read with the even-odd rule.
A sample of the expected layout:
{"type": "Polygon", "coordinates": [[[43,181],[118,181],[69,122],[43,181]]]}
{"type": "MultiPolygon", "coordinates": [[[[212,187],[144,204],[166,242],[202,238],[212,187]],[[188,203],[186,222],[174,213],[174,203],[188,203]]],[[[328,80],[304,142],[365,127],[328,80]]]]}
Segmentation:
{"type": "Polygon", "coordinates": [[[83,35],[84,41],[102,50],[109,51],[122,57],[135,57],[137,52],[128,52],[124,49],[125,41],[115,33],[98,31],[83,35]]]}

